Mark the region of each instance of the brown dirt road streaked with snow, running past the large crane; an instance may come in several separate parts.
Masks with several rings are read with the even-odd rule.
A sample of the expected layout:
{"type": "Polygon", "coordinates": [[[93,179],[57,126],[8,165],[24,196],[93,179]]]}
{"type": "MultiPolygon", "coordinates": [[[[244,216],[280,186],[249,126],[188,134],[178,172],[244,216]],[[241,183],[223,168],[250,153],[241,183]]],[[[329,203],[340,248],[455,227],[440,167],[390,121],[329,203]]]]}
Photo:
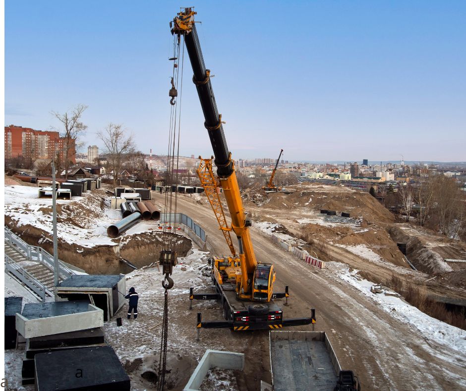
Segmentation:
{"type": "MultiPolygon", "coordinates": [[[[154,199],[160,203],[163,200],[160,195],[154,199]]],[[[196,203],[189,196],[179,196],[177,212],[186,213],[204,228],[208,242],[217,254],[228,252],[210,206],[196,203]]],[[[315,329],[328,333],[340,364],[356,372],[364,390],[466,389],[465,355],[426,341],[414,328],[395,320],[340,280],[334,271],[311,269],[291,253],[275,246],[254,226],[251,236],[257,259],[274,262],[276,289],[290,286],[290,305],[283,306],[284,317],[308,316],[310,309],[315,308],[315,329]]],[[[225,338],[230,338],[230,331],[223,333],[225,338]]],[[[250,368],[269,369],[268,351],[264,348],[268,334],[256,332],[253,337],[245,337],[252,338],[255,345],[249,343],[245,351],[246,377],[243,381],[247,382],[248,375],[253,375],[250,368]]],[[[264,374],[262,379],[270,381],[270,375],[264,374]]],[[[249,390],[258,389],[257,381],[252,384],[238,382],[249,390]]]]}

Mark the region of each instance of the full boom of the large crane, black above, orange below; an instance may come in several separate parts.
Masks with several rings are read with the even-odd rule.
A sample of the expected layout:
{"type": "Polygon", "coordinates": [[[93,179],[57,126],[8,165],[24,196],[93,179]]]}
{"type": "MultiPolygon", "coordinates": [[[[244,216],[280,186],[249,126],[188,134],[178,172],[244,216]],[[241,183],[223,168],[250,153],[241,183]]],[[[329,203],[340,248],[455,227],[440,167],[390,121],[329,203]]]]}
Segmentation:
{"type": "MultiPolygon", "coordinates": [[[[210,81],[210,70],[204,64],[204,58],[199,43],[199,38],[194,24],[195,12],[191,8],[185,8],[174,19],[172,33],[184,36],[184,43],[192,65],[197,94],[204,113],[204,126],[209,133],[210,142],[217,166],[217,175],[220,185],[224,190],[228,208],[232,218],[232,229],[238,238],[239,258],[241,260],[241,291],[251,294],[253,289],[251,281],[254,279],[254,271],[257,266],[254,249],[249,235],[244,208],[239,192],[238,181],[234,171],[231,152],[228,150],[227,141],[222,125],[222,117],[219,115],[214,91],[210,81]]],[[[241,295],[241,294],[240,294],[241,295]]]]}

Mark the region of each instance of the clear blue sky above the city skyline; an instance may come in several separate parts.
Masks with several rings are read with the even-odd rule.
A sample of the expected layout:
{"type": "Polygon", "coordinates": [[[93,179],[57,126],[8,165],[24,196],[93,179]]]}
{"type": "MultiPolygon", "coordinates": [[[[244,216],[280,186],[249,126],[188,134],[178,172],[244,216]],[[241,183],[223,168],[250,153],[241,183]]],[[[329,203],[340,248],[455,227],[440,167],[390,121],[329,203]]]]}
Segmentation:
{"type": "MultiPolygon", "coordinates": [[[[194,5],[233,158],[466,160],[466,1],[5,1],[5,125],[166,153],[169,21],[194,5]]],[[[185,57],[180,154],[212,149],[185,57]]]]}

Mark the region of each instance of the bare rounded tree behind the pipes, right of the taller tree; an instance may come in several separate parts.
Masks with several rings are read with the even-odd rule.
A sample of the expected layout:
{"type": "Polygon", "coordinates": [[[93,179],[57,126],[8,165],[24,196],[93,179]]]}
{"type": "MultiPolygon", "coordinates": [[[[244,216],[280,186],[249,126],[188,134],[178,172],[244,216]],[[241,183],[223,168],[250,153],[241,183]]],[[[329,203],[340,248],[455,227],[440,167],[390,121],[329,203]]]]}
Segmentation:
{"type": "Polygon", "coordinates": [[[105,145],[107,162],[110,170],[113,170],[113,184],[117,186],[118,174],[123,164],[123,158],[126,154],[134,151],[134,142],[132,133],[126,134],[121,125],[110,123],[104,131],[97,132],[97,136],[105,145]]]}

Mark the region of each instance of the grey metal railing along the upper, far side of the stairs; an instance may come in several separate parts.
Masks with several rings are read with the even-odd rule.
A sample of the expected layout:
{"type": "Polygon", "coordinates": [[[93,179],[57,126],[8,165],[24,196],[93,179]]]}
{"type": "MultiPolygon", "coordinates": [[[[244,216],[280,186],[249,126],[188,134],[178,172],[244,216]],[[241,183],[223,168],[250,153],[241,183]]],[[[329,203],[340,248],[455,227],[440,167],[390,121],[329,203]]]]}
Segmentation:
{"type": "MultiPolygon", "coordinates": [[[[28,258],[30,261],[39,262],[43,264],[48,269],[54,271],[55,261],[54,256],[45,251],[42,247],[28,245],[24,240],[11,232],[7,227],[4,227],[5,230],[5,241],[18,249],[23,255],[28,258]]],[[[62,280],[76,274],[73,269],[67,267],[63,264],[62,261],[58,260],[58,277],[62,280]]],[[[81,270],[81,269],[79,269],[81,270]]],[[[76,271],[79,271],[76,268],[76,271]]],[[[84,270],[82,270],[84,272],[84,270]]]]}

